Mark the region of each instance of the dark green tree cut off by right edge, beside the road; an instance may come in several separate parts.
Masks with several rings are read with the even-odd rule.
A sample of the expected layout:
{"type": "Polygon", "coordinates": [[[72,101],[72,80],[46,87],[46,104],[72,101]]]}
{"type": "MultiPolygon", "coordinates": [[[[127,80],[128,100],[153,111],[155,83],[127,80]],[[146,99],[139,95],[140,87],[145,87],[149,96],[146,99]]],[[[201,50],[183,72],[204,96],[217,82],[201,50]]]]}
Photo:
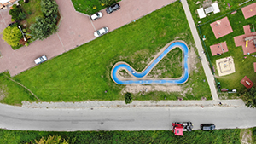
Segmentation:
{"type": "Polygon", "coordinates": [[[256,88],[248,89],[243,95],[241,95],[241,99],[245,102],[247,107],[256,107],[256,88]]]}

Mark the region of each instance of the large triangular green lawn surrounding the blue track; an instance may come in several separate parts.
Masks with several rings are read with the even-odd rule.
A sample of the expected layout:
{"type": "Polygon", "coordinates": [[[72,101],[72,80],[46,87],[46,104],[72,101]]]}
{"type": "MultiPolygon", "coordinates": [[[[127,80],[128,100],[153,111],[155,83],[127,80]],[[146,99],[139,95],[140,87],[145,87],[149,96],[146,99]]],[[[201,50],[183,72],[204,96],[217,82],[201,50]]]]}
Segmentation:
{"type": "MultiPolygon", "coordinates": [[[[113,65],[125,61],[140,72],[148,65],[145,61],[152,60],[166,43],[174,39],[183,40],[188,43],[189,49],[195,49],[182,4],[178,2],[22,72],[14,79],[31,89],[42,101],[124,100],[121,91],[125,86],[113,83],[110,77],[113,65]],[[178,15],[176,11],[179,11],[178,15]]],[[[177,55],[180,53],[177,49],[177,55]]],[[[170,61],[166,62],[166,66],[170,65],[170,61]]],[[[175,63],[178,64],[178,60],[175,63]]],[[[177,66],[168,68],[177,71],[177,76],[173,72],[164,74],[180,76],[177,66]]],[[[135,100],[177,100],[177,96],[183,96],[184,100],[201,100],[203,96],[211,99],[200,60],[196,58],[193,67],[189,70],[189,81],[182,85],[183,94],[155,91],[144,96],[135,95],[135,100]]],[[[9,90],[12,91],[12,88],[8,87],[7,93],[9,90]]],[[[23,96],[26,97],[24,100],[34,101],[23,93],[11,95],[11,99],[21,102],[20,97],[23,96]]],[[[20,104],[10,100],[1,102],[20,104]]]]}

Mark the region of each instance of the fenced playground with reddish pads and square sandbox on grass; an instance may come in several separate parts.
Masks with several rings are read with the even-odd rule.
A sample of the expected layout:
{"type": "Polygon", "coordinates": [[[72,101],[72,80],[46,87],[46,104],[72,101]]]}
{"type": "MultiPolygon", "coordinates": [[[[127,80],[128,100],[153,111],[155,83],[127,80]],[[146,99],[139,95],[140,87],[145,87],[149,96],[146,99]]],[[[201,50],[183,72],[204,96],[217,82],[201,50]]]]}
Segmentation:
{"type": "Polygon", "coordinates": [[[246,89],[241,84],[245,76],[256,82],[253,64],[256,62],[255,8],[255,2],[247,3],[241,9],[226,10],[221,16],[215,16],[199,26],[219,89],[241,92],[246,89]]]}

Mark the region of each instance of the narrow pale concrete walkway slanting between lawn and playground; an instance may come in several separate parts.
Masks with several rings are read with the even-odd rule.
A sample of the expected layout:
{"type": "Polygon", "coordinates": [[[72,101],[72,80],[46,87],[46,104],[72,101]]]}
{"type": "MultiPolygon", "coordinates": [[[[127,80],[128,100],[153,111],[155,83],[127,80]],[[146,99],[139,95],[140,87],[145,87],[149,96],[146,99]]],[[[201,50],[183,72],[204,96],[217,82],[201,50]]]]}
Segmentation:
{"type": "Polygon", "coordinates": [[[196,30],[196,27],[195,27],[195,22],[194,22],[194,20],[192,18],[192,15],[190,13],[189,4],[187,3],[187,0],[181,0],[181,2],[183,4],[183,9],[185,11],[187,20],[189,21],[189,27],[190,27],[190,30],[191,30],[192,35],[194,37],[194,40],[195,40],[195,46],[198,50],[198,54],[201,56],[201,59],[202,59],[201,64],[202,64],[202,66],[204,68],[204,72],[207,76],[207,82],[208,82],[209,87],[211,89],[212,98],[215,101],[219,101],[218,94],[217,94],[217,89],[216,89],[215,84],[214,84],[214,77],[213,77],[211,69],[208,65],[207,57],[206,57],[206,55],[201,53],[201,51],[203,51],[204,49],[202,48],[201,40],[200,40],[200,37],[199,37],[199,35],[197,33],[197,30],[196,30]]]}

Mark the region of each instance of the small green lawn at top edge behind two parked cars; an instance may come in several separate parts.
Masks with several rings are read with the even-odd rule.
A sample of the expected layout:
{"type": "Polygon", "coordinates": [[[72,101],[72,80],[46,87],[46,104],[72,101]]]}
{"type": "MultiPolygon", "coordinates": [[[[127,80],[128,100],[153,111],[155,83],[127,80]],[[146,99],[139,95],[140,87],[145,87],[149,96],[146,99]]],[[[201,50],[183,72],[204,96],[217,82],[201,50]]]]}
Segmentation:
{"type": "Polygon", "coordinates": [[[120,0],[72,0],[72,3],[76,11],[91,15],[119,1],[120,0]]]}

